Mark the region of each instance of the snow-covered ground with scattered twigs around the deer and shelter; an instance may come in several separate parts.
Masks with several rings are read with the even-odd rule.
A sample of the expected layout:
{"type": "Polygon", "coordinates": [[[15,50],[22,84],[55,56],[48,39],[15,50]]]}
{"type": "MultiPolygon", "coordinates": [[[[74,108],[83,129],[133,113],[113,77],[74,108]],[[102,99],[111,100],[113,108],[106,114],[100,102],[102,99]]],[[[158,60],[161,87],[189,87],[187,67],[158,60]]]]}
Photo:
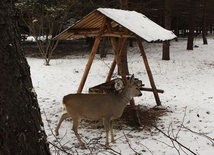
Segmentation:
{"type": "MultiPolygon", "coordinates": [[[[169,111],[160,118],[157,127],[195,154],[210,155],[214,152],[214,39],[210,37],[208,45],[203,45],[199,38],[194,43],[199,47],[187,51],[186,39],[171,41],[170,61],[161,60],[162,44],[143,45],[156,86],[165,91],[160,94],[162,105],[169,111]]],[[[191,154],[154,128],[132,130],[125,126],[120,130],[115,129],[116,144],[110,143],[112,150],[106,150],[100,145],[105,143],[104,130],[88,127],[87,123],[80,123],[79,126],[79,133],[87,143],[87,150],[77,147],[77,138],[71,130],[72,121],[62,123],[59,137],[56,138],[53,131],[63,113],[62,97],[77,91],[88,56],[80,53],[64,59],[54,59],[51,60],[51,66],[43,65],[42,59],[27,58],[48,141],[58,147],[60,142],[63,149],[71,154],[191,154]]],[[[96,55],[83,92],[86,93],[88,88],[105,81],[112,60],[111,54],[104,59],[96,55]]],[[[128,63],[130,73],[134,73],[146,87],[150,87],[137,46],[129,48],[128,63]]],[[[135,103],[148,108],[155,106],[153,94],[142,93],[141,97],[135,98],[135,103]]],[[[50,148],[52,154],[58,153],[54,147],[50,148]]],[[[61,151],[59,154],[65,153],[61,151]]]]}

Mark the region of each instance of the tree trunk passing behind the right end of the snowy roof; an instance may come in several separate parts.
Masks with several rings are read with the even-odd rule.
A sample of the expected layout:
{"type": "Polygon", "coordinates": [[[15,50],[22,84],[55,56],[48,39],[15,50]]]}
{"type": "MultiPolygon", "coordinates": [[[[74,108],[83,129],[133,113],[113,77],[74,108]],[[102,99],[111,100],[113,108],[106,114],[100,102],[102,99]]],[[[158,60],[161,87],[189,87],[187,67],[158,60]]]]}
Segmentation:
{"type": "MultiPolygon", "coordinates": [[[[164,27],[168,30],[171,29],[171,0],[165,0],[165,22],[164,27]]],[[[170,60],[170,43],[169,41],[163,42],[163,55],[162,60],[170,60]]]]}

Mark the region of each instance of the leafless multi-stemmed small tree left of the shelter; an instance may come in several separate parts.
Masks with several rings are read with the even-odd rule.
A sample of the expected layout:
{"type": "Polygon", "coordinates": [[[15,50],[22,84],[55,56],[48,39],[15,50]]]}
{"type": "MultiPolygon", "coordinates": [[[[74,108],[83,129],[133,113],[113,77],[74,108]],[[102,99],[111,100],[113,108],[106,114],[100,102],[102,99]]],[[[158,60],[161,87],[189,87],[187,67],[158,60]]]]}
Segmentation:
{"type": "Polygon", "coordinates": [[[52,38],[62,31],[72,3],[68,0],[38,2],[19,0],[16,6],[20,22],[26,25],[35,37],[39,51],[45,59],[45,65],[50,65],[52,54],[58,44],[58,41],[52,38]]]}

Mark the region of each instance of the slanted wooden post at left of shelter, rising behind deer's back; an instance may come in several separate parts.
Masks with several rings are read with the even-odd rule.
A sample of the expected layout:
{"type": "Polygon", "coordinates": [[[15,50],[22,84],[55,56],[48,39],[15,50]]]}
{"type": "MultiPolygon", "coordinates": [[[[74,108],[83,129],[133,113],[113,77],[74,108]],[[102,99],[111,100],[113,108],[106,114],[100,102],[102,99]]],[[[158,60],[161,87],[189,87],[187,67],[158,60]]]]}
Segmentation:
{"type": "Polygon", "coordinates": [[[85,71],[84,71],[84,73],[83,73],[82,80],[81,80],[81,82],[80,82],[80,85],[79,85],[79,88],[78,88],[78,90],[77,90],[77,93],[81,93],[81,92],[82,92],[82,89],[83,89],[83,87],[84,87],[84,85],[85,85],[85,81],[86,81],[86,79],[87,79],[89,70],[90,70],[90,68],[91,68],[91,64],[92,64],[92,62],[93,62],[93,60],[94,60],[94,56],[95,56],[95,54],[96,54],[96,52],[97,52],[97,48],[98,48],[98,46],[99,46],[101,36],[102,36],[102,34],[103,34],[105,28],[106,28],[106,17],[103,18],[103,22],[102,22],[102,25],[101,25],[101,27],[100,27],[99,35],[96,37],[96,39],[95,39],[95,41],[94,41],[94,45],[93,45],[93,48],[92,48],[92,50],[91,50],[91,54],[90,54],[90,56],[89,56],[88,62],[87,62],[87,64],[86,64],[85,71]]]}

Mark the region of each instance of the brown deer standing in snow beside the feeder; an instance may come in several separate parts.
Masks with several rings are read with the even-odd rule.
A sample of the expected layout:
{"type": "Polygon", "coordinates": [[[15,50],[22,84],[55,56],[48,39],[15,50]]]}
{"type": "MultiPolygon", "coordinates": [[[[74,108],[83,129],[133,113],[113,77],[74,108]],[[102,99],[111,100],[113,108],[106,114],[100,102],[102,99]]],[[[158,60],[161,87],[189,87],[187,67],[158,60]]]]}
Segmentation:
{"type": "Polygon", "coordinates": [[[68,94],[63,97],[66,112],[62,114],[55,135],[59,135],[61,123],[66,118],[72,118],[73,131],[80,143],[81,149],[86,149],[85,143],[78,134],[78,125],[82,119],[102,120],[106,132],[105,147],[109,148],[109,131],[111,142],[115,143],[113,135],[113,120],[121,117],[125,107],[133,97],[141,96],[139,86],[134,82],[134,75],[127,80],[127,84],[119,94],[68,94]]]}

